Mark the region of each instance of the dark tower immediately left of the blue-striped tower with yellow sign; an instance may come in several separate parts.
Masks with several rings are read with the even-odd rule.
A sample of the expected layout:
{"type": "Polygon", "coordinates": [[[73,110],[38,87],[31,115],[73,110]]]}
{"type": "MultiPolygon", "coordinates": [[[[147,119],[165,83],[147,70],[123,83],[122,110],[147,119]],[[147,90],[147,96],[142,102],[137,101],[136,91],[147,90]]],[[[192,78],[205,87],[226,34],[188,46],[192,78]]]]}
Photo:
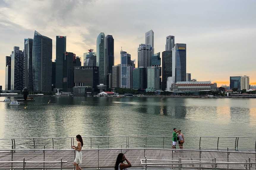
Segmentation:
{"type": "Polygon", "coordinates": [[[173,63],[172,51],[162,52],[162,90],[167,88],[167,78],[172,77],[173,63]]]}

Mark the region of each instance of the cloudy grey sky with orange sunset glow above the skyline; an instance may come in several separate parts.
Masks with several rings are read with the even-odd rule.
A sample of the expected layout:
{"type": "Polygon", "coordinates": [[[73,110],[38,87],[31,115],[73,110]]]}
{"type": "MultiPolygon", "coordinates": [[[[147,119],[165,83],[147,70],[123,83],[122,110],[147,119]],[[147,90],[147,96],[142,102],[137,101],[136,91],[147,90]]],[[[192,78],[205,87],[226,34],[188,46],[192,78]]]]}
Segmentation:
{"type": "Polygon", "coordinates": [[[255,0],[0,0],[0,85],[5,56],[34,31],[53,40],[67,36],[68,52],[83,60],[99,33],[113,35],[115,65],[120,51],[137,67],[139,44],[154,31],[154,53],[165,51],[166,37],[187,44],[187,73],[197,81],[229,86],[230,76],[249,76],[256,85],[255,0]]]}

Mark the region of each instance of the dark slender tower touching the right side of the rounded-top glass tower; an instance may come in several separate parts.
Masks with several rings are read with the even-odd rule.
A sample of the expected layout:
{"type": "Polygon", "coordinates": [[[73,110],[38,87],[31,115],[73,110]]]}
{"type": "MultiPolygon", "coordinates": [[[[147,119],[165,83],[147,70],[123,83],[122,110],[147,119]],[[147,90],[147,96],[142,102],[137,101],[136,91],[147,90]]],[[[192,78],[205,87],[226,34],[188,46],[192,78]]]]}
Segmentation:
{"type": "Polygon", "coordinates": [[[114,65],[114,38],[112,35],[106,36],[106,59],[108,73],[112,73],[112,66],[114,65]]]}

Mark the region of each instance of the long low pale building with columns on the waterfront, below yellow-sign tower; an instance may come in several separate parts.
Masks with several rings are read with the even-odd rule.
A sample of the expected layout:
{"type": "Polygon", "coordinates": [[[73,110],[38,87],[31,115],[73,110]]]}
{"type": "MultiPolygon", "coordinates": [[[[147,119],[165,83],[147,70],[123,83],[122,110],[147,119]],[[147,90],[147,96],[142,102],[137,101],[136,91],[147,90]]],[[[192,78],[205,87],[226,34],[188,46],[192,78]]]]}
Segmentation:
{"type": "Polygon", "coordinates": [[[172,85],[170,90],[174,93],[193,93],[217,91],[217,83],[211,81],[190,81],[190,82],[176,82],[172,85]]]}

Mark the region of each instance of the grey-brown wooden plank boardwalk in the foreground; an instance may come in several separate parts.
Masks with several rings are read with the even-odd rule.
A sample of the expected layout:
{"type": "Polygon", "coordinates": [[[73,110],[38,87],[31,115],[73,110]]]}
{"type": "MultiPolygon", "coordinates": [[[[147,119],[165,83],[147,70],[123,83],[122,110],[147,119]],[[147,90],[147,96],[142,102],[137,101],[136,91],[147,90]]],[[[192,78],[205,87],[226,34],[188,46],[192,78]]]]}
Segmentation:
{"type": "MultiPolygon", "coordinates": [[[[15,153],[9,152],[0,152],[0,162],[1,161],[23,161],[25,158],[26,161],[30,160],[51,160],[51,161],[67,161],[63,163],[62,169],[73,169],[73,162],[75,159],[75,150],[45,150],[40,151],[15,151],[15,153]]],[[[182,152],[178,151],[173,153],[172,150],[149,150],[149,149],[112,149],[112,150],[82,150],[83,154],[83,163],[80,165],[82,169],[96,169],[96,168],[108,168],[113,169],[116,157],[118,153],[124,153],[125,157],[130,161],[132,167],[140,167],[140,159],[143,159],[144,156],[147,159],[161,159],[161,160],[190,160],[190,161],[212,161],[216,158],[216,161],[229,161],[229,162],[246,162],[251,158],[251,162],[256,161],[255,151],[248,150],[243,152],[251,153],[225,153],[221,151],[201,151],[197,150],[184,150],[182,152]]],[[[163,161],[167,162],[167,161],[163,161]]],[[[170,162],[170,161],[169,161],[170,162]]],[[[0,169],[22,169],[23,163],[0,163],[0,169]]],[[[156,166],[157,167],[157,166],[156,166]]],[[[176,168],[177,166],[164,165],[163,167],[176,168]]],[[[186,168],[197,168],[197,169],[209,169],[212,168],[209,165],[184,165],[186,168]]],[[[60,169],[60,163],[26,163],[25,169],[60,169]],[[58,168],[59,167],[59,168],[58,168]]],[[[219,169],[227,169],[227,165],[219,165],[219,169]]],[[[244,165],[229,165],[229,169],[246,169],[244,165]]],[[[149,168],[150,169],[150,168],[149,168]]],[[[160,169],[160,168],[159,168],[160,169]]],[[[249,168],[247,168],[249,169],[249,168]]],[[[252,165],[251,169],[256,169],[255,164],[252,165]]]]}

